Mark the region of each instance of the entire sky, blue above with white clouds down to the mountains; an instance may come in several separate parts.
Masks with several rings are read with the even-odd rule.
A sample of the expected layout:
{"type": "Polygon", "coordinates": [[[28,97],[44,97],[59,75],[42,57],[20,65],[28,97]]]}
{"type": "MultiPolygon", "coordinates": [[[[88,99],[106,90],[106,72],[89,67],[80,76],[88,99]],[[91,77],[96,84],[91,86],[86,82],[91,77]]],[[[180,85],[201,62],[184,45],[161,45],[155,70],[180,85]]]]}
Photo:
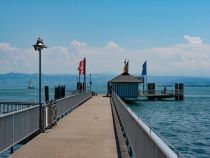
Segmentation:
{"type": "Polygon", "coordinates": [[[209,0],[7,0],[0,4],[0,73],[210,76],[209,0]]]}

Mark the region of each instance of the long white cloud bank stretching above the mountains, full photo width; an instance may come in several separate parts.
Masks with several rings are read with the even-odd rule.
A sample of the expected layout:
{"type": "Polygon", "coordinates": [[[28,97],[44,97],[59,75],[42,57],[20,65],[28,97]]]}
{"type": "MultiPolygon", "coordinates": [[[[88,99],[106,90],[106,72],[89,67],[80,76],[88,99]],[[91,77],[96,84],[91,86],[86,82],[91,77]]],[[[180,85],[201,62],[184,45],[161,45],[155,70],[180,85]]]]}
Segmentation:
{"type": "MultiPolygon", "coordinates": [[[[210,76],[210,45],[203,44],[200,37],[196,39],[197,42],[191,39],[187,44],[136,51],[121,48],[115,42],[93,47],[74,40],[66,47],[43,50],[43,73],[77,73],[79,61],[86,57],[87,70],[91,73],[121,73],[126,58],[130,61],[131,73],[140,74],[142,64],[147,60],[150,75],[210,76]]],[[[0,43],[0,64],[0,73],[38,72],[38,53],[33,49],[14,48],[9,43],[0,43]]]]}

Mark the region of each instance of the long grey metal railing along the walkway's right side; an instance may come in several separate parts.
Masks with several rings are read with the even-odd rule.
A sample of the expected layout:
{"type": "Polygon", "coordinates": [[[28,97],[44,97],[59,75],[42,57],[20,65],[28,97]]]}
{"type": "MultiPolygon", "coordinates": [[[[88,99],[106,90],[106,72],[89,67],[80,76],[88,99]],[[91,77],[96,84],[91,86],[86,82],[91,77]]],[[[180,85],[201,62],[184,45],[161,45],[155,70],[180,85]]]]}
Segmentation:
{"type": "Polygon", "coordinates": [[[112,93],[112,100],[135,157],[179,157],[114,92],[112,93]]]}

